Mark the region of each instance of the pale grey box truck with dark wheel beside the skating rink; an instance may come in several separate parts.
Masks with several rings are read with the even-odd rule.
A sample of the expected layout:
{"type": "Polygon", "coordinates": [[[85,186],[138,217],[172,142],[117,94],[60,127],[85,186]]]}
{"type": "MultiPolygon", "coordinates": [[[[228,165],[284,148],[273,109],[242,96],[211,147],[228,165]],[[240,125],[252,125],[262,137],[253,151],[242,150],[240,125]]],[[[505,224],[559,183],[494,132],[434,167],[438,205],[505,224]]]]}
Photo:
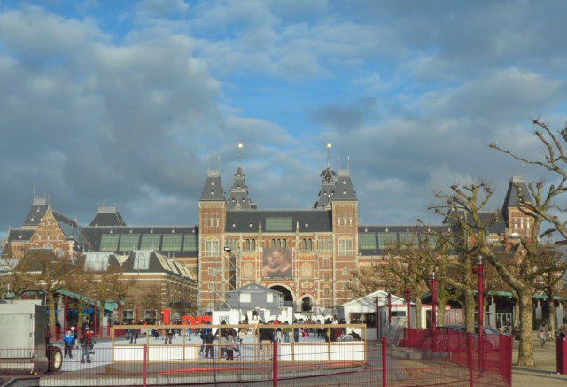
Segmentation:
{"type": "Polygon", "coordinates": [[[63,354],[46,329],[41,300],[0,301],[0,375],[58,372],[63,354]]]}

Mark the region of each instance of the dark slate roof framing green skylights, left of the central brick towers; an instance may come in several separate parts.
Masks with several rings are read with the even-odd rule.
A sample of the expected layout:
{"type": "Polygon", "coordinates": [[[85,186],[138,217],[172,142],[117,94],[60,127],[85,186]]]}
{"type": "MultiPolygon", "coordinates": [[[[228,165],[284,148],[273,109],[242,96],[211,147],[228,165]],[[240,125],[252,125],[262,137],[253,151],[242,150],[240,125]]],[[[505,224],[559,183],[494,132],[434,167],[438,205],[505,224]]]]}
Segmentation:
{"type": "MultiPolygon", "coordinates": [[[[190,256],[196,257],[198,255],[198,250],[184,250],[185,249],[185,234],[195,234],[198,236],[198,226],[120,226],[120,227],[85,227],[83,228],[85,234],[89,238],[89,242],[92,245],[92,250],[95,252],[100,251],[100,243],[102,241],[102,236],[106,234],[113,235],[144,235],[153,234],[159,235],[159,245],[155,246],[153,249],[157,252],[163,252],[165,254],[171,254],[174,256],[190,256]],[[183,250],[162,250],[163,235],[182,235],[182,249],[183,250]]],[[[120,241],[119,241],[120,243],[120,241]]],[[[141,248],[142,236],[139,237],[136,244],[136,249],[141,248]]],[[[119,251],[121,252],[121,251],[119,251]]]]}

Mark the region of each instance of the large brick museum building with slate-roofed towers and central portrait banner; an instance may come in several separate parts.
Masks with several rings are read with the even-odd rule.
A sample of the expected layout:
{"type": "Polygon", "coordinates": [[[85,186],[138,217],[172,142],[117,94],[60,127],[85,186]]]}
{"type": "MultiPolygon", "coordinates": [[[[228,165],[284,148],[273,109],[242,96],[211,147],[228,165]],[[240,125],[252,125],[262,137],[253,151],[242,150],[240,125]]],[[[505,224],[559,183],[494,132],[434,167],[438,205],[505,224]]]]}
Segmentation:
{"type": "MultiPolygon", "coordinates": [[[[510,181],[498,221],[491,226],[494,238],[528,233],[531,220],[517,209],[513,183],[524,186],[520,178],[510,181]]],[[[199,309],[221,306],[229,290],[250,283],[281,291],[296,310],[339,306],[353,298],[349,285],[355,270],[376,262],[385,245],[416,241],[418,235],[415,225],[360,224],[349,170],[336,172],[328,164],[318,196],[315,192],[316,187],[315,205],[304,210],[258,208],[241,166],[228,194],[220,172],[209,170],[198,202],[198,225],[185,226],[130,226],[115,207],[98,208],[89,225],[81,226],[36,197],[21,228],[10,229],[3,250],[16,259],[42,248],[59,256],[157,253],[183,265],[198,289],[199,309]],[[46,213],[61,230],[57,239],[39,227],[46,213]]]]}

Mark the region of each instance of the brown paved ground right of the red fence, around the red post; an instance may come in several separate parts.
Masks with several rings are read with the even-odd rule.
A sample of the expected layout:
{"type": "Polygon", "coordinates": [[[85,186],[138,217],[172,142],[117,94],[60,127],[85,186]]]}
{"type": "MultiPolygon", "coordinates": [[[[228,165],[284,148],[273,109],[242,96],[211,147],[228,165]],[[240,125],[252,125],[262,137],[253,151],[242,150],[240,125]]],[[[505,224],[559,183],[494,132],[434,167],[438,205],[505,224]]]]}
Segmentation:
{"type": "MultiPolygon", "coordinates": [[[[517,362],[518,341],[514,341],[513,361],[517,362]]],[[[567,375],[555,373],[555,340],[548,341],[542,348],[540,341],[533,339],[534,358],[536,366],[525,368],[514,366],[512,383],[516,386],[541,387],[548,385],[567,385],[567,375]]]]}

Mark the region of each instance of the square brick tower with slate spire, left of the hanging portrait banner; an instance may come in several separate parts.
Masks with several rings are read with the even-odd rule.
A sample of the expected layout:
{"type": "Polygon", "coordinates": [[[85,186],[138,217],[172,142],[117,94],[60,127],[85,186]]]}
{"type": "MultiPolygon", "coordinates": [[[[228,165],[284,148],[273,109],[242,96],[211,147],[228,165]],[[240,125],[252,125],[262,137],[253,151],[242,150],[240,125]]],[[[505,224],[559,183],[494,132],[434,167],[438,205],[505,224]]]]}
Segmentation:
{"type": "Polygon", "coordinates": [[[207,170],[198,202],[198,294],[200,307],[220,305],[229,280],[222,250],[227,202],[218,168],[207,170]],[[225,278],[226,277],[226,278],[225,278]]]}

